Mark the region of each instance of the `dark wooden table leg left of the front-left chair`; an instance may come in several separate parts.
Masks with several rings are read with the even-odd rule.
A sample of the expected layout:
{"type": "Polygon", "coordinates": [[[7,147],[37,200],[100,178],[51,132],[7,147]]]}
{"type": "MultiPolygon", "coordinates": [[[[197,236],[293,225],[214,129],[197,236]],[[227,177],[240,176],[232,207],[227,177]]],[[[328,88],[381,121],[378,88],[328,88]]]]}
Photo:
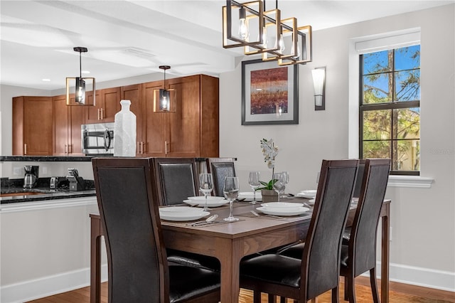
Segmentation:
{"type": "Polygon", "coordinates": [[[90,303],[101,301],[101,227],[99,218],[90,218],[90,303]]]}

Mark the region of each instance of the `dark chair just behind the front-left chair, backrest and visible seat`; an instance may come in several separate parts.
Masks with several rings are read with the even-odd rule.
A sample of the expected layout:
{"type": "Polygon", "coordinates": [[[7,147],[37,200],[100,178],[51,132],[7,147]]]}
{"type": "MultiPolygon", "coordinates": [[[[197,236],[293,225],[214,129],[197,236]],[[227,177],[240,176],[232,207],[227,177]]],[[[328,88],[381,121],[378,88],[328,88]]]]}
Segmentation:
{"type": "MultiPolygon", "coordinates": [[[[188,197],[197,196],[196,162],[194,158],[154,158],[156,186],[160,205],[182,204],[188,197]]],[[[215,257],[193,252],[168,249],[168,261],[182,265],[220,270],[215,257]]]]}

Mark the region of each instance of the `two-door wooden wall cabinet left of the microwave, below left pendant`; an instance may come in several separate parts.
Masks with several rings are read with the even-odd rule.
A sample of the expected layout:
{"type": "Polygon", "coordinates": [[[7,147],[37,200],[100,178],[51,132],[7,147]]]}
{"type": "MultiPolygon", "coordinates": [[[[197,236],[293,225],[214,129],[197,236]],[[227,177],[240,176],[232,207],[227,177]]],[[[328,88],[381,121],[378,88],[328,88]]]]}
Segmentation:
{"type": "MultiPolygon", "coordinates": [[[[74,99],[74,94],[72,96],[74,99]]],[[[85,123],[84,106],[67,106],[66,95],[53,97],[53,155],[82,156],[80,125],[85,123]]]]}

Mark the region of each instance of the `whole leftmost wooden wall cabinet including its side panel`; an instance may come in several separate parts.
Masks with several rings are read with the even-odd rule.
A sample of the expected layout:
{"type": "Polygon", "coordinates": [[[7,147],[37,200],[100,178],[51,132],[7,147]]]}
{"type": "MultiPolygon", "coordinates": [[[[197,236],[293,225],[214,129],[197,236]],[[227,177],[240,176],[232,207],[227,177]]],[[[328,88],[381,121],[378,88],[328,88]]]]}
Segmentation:
{"type": "Polygon", "coordinates": [[[52,97],[13,98],[14,155],[52,155],[52,115],[52,97]]]}

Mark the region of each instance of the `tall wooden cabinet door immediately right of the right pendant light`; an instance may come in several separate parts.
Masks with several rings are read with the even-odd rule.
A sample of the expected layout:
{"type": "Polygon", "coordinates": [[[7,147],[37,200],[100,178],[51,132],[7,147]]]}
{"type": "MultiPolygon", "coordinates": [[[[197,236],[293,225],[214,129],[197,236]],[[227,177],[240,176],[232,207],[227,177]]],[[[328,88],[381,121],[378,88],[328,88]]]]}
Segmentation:
{"type": "Polygon", "coordinates": [[[169,80],[169,88],[176,90],[176,112],[166,113],[166,156],[189,158],[200,154],[199,79],[196,75],[169,80]]]}

